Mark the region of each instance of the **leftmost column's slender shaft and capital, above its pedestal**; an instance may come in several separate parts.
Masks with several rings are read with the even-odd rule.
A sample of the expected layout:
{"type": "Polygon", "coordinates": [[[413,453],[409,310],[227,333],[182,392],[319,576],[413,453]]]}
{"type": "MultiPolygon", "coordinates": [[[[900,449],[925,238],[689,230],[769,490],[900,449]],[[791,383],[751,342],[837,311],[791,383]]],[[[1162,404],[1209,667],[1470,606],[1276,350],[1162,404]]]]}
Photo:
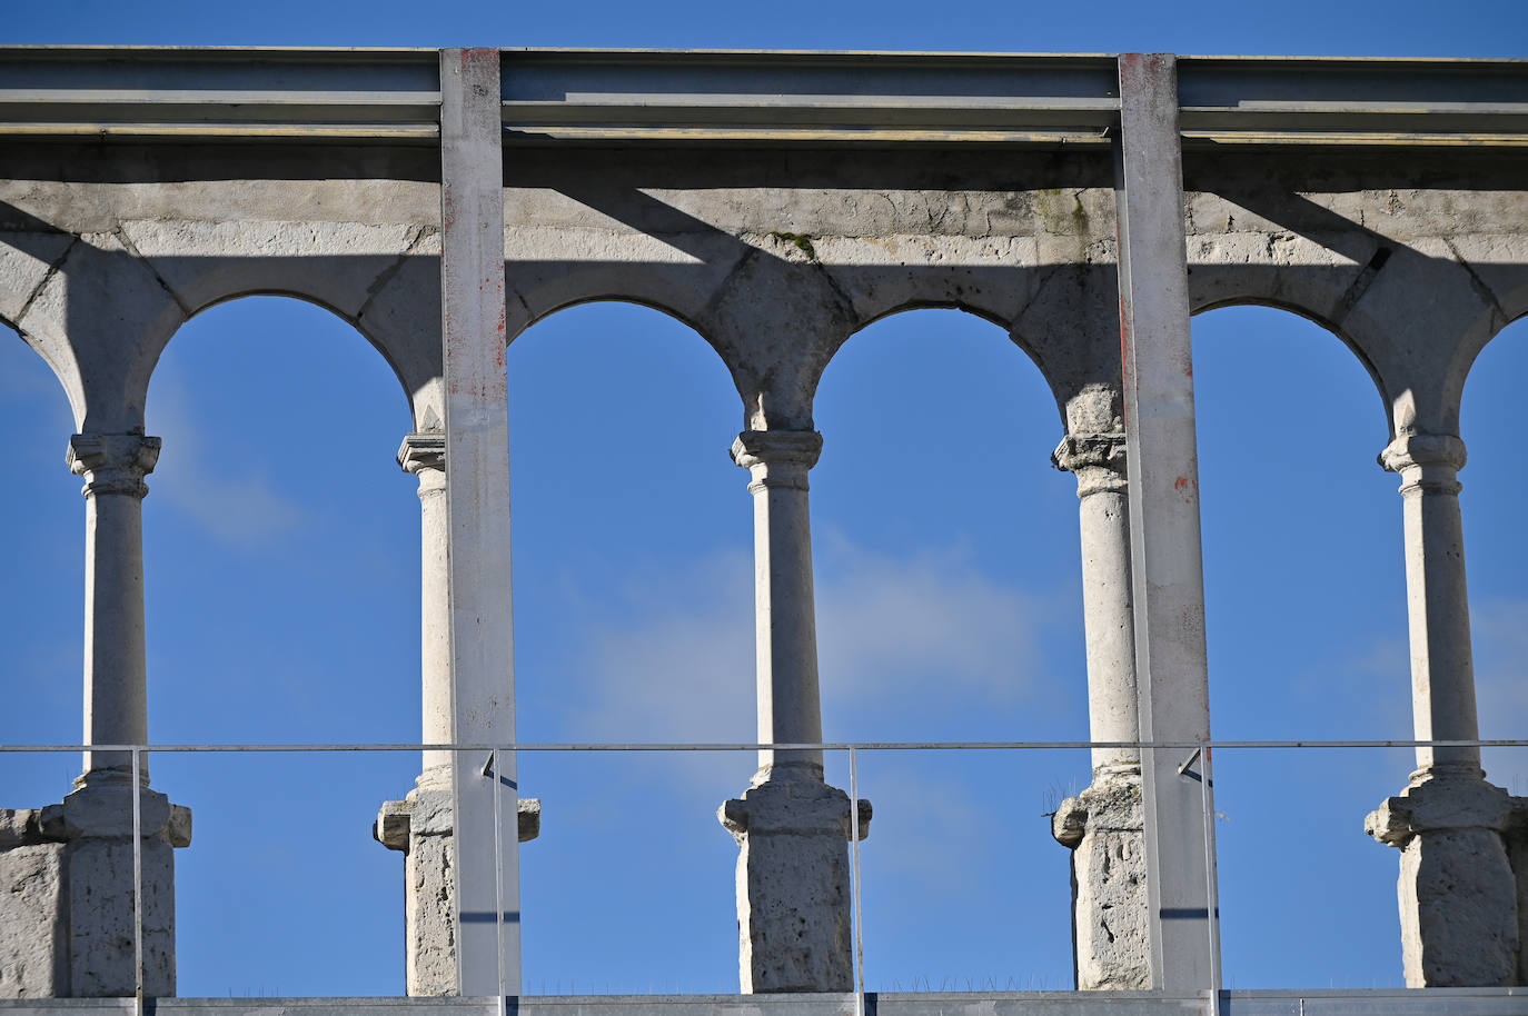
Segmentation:
{"type": "MultiPolygon", "coordinates": [[[[144,477],[159,438],[75,434],[69,468],[86,495],[84,744],[148,741],[148,662],[144,651],[144,477]]],[[[86,752],[76,787],[130,779],[124,752],[86,752]]],[[[148,767],[142,768],[148,785],[148,767]]]]}

